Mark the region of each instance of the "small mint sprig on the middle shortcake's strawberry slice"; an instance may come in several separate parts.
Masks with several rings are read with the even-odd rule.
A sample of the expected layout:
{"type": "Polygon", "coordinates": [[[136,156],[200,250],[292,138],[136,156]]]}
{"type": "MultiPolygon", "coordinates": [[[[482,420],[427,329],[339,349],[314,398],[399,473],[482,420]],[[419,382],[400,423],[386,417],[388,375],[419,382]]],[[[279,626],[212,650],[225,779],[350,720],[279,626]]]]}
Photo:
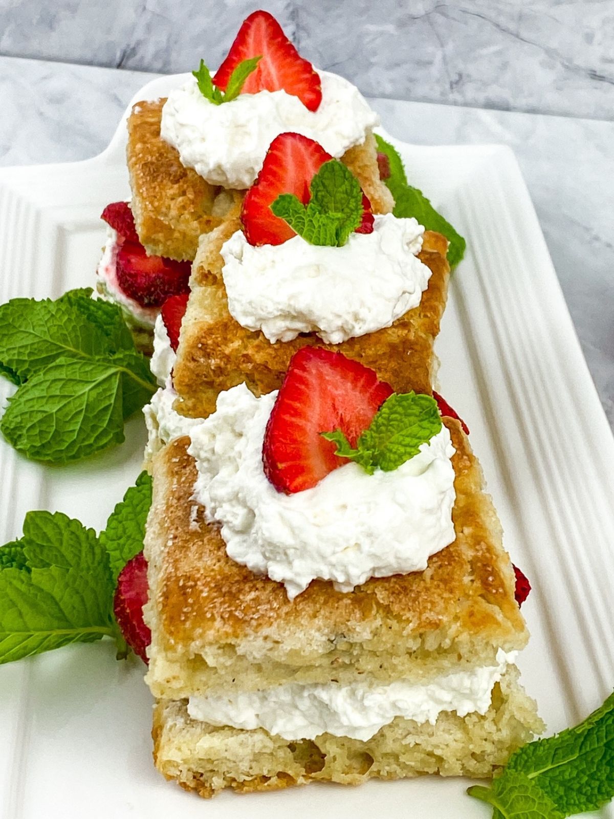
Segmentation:
{"type": "Polygon", "coordinates": [[[332,159],[320,167],[309,185],[304,205],[294,193],[282,193],[271,205],[273,214],[312,245],[341,247],[363,219],[363,192],[342,162],[332,159]]]}

